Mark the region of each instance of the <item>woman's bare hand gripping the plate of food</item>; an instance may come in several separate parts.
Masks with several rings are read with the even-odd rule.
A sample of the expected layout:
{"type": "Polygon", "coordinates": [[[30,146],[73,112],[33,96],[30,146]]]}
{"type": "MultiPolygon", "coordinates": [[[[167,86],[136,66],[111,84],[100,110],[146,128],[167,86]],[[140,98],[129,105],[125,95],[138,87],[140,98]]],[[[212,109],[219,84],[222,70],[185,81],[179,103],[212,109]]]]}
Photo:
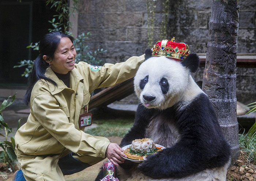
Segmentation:
{"type": "Polygon", "coordinates": [[[107,147],[105,155],[109,159],[109,161],[113,163],[113,165],[117,166],[118,163],[124,163],[125,159],[122,157],[127,157],[122,151],[124,150],[120,148],[118,144],[110,143],[107,147]]]}

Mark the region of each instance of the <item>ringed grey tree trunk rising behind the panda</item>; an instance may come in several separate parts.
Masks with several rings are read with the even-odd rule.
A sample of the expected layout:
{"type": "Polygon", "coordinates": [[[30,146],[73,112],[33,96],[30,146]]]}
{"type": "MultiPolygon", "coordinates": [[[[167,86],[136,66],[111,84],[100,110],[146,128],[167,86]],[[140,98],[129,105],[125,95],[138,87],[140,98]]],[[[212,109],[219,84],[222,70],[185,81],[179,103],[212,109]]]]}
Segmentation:
{"type": "Polygon", "coordinates": [[[239,156],[236,113],[236,53],[239,0],[213,0],[209,25],[203,91],[209,96],[226,140],[232,162],[239,156]]]}

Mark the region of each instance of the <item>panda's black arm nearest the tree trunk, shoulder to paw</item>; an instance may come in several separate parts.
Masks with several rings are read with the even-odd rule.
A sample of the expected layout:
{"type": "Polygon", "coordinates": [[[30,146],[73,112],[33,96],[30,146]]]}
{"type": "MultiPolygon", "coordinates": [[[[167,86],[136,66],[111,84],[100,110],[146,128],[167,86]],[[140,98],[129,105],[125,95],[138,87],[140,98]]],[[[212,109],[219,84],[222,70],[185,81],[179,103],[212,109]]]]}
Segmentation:
{"type": "Polygon", "coordinates": [[[180,178],[204,169],[225,165],[230,147],[222,135],[214,110],[205,95],[180,113],[180,140],[172,147],[150,155],[139,169],[153,178],[180,178]]]}

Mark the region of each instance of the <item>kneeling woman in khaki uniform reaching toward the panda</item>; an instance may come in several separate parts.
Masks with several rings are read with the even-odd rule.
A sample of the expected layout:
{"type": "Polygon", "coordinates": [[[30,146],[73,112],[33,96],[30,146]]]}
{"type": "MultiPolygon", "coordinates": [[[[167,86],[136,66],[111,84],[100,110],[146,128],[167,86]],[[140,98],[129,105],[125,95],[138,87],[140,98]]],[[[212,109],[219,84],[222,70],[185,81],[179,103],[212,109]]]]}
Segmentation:
{"type": "MultiPolygon", "coordinates": [[[[114,165],[126,157],[115,143],[84,133],[90,94],[132,78],[144,55],[102,67],[75,64],[74,38],[54,31],[39,44],[25,101],[30,106],[26,124],[15,135],[21,170],[14,180],[61,181],[104,158],[114,165]],[[81,122],[82,121],[82,122],[81,122]]],[[[91,121],[91,120],[90,120],[91,121]]]]}

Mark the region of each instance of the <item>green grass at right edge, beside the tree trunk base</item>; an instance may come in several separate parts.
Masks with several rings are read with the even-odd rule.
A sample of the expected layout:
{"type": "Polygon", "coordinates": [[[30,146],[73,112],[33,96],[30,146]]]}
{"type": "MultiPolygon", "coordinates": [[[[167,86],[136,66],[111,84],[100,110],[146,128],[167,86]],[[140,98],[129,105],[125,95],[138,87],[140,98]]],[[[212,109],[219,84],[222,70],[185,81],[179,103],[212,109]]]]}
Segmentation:
{"type": "Polygon", "coordinates": [[[238,135],[242,151],[246,152],[247,161],[256,164],[256,133],[253,135],[243,133],[238,135]]]}

